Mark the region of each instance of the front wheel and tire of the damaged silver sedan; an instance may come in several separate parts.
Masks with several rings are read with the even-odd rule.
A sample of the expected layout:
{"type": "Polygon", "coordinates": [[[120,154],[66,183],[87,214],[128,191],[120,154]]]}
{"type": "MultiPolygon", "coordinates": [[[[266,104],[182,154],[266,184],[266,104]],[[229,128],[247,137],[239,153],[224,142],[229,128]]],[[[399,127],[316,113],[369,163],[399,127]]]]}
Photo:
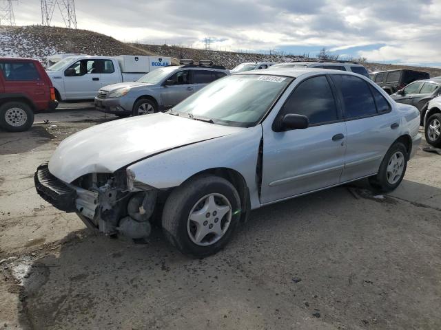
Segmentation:
{"type": "Polygon", "coordinates": [[[172,191],[165,202],[162,225],[179,251],[203,258],[228,243],[239,219],[236,188],[222,177],[201,175],[172,191]]]}

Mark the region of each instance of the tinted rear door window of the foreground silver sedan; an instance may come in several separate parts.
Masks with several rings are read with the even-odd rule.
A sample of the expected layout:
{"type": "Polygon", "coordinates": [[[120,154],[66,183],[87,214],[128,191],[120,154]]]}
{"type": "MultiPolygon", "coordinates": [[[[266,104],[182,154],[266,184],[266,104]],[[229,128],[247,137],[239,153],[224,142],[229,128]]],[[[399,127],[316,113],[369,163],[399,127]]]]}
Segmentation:
{"type": "Polygon", "coordinates": [[[376,104],[365,80],[356,76],[333,74],[332,80],[341,92],[346,119],[376,115],[376,104]]]}

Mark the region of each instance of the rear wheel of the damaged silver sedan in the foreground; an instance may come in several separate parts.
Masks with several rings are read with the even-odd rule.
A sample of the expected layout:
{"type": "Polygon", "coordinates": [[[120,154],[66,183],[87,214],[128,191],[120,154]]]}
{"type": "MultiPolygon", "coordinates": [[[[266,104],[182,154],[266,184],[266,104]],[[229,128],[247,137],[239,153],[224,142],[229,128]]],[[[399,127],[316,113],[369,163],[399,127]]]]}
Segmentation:
{"type": "Polygon", "coordinates": [[[369,177],[371,186],[382,192],[395,190],[406,173],[408,157],[406,146],[401,142],[394,143],[384,156],[378,174],[369,177]]]}

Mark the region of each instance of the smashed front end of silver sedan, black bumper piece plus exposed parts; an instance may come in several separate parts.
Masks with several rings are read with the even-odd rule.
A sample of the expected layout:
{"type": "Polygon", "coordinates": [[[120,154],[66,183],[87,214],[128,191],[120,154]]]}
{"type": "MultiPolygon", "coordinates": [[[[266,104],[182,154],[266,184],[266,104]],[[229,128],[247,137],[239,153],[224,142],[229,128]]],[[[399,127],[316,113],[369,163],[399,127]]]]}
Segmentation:
{"type": "Polygon", "coordinates": [[[66,184],[45,163],[37,168],[34,181],[43,199],[65,212],[76,212],[88,228],[132,239],[150,235],[158,191],[136,183],[130,170],[91,173],[66,184]]]}

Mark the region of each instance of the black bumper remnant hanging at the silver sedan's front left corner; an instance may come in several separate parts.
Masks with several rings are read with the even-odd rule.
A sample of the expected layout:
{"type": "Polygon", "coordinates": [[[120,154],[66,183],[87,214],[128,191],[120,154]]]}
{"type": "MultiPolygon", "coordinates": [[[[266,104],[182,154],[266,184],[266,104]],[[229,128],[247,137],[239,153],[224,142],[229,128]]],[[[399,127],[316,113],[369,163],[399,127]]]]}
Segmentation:
{"type": "Polygon", "coordinates": [[[34,174],[35,189],[48,203],[65,212],[78,212],[75,206],[76,190],[49,172],[48,162],[41,164],[34,174]]]}

